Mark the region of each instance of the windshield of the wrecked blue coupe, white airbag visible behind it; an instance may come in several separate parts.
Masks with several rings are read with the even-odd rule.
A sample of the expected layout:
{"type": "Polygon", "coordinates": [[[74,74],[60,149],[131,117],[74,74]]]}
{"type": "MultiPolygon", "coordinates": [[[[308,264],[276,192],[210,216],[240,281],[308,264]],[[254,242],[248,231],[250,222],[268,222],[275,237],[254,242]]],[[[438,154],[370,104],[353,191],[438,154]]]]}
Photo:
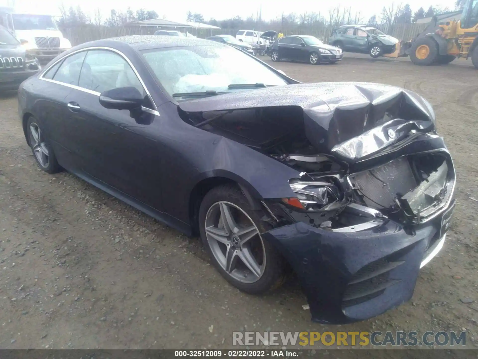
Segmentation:
{"type": "Polygon", "coordinates": [[[282,86],[287,82],[253,57],[229,46],[185,46],[143,50],[166,91],[231,92],[230,85],[282,86]]]}

